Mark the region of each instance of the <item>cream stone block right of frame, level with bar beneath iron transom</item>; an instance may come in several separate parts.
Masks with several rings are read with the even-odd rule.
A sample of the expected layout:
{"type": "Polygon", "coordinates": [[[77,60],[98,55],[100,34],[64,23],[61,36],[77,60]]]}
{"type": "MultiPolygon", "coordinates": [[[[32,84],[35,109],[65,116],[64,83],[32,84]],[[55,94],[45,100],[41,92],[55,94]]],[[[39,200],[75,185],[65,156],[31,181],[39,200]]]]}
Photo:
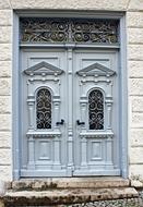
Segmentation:
{"type": "Polygon", "coordinates": [[[143,61],[143,45],[129,45],[128,58],[129,60],[142,60],[143,61]]]}

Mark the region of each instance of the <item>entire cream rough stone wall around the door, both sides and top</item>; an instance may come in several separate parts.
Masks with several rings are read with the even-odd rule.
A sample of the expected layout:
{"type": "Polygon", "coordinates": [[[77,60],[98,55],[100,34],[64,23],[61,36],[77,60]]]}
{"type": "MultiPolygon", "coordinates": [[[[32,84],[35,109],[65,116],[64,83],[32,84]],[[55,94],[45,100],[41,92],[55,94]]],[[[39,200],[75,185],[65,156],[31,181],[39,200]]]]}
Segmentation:
{"type": "Polygon", "coordinates": [[[143,1],[0,0],[0,179],[12,179],[12,22],[15,9],[126,11],[129,85],[129,162],[133,184],[143,180],[143,1]]]}

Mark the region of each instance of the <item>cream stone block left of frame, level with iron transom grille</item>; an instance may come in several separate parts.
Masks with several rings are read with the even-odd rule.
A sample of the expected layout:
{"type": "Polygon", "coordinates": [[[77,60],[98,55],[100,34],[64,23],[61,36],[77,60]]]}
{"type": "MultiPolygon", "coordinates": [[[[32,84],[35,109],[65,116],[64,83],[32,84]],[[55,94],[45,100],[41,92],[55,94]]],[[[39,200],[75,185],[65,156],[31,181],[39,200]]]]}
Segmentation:
{"type": "Polygon", "coordinates": [[[12,41],[12,27],[11,26],[1,26],[0,27],[0,44],[11,42],[12,41]]]}

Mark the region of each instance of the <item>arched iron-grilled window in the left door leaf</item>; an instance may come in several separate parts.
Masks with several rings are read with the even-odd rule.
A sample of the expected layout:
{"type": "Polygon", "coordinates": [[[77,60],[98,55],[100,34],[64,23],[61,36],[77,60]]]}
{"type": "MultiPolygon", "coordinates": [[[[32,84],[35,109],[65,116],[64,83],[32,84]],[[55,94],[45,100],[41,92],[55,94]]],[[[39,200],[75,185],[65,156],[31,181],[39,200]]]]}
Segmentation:
{"type": "Polygon", "coordinates": [[[37,129],[51,129],[51,94],[47,88],[41,88],[36,97],[37,129]]]}

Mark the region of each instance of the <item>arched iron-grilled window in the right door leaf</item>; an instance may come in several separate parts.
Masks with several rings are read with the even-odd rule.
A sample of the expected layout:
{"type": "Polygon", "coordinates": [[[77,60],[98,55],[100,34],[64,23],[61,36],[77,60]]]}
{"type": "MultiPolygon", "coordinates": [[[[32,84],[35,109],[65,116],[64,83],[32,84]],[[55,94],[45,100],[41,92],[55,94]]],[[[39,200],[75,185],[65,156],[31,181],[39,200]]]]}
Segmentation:
{"type": "Polygon", "coordinates": [[[104,130],[104,96],[98,89],[88,95],[90,130],[104,130]]]}

